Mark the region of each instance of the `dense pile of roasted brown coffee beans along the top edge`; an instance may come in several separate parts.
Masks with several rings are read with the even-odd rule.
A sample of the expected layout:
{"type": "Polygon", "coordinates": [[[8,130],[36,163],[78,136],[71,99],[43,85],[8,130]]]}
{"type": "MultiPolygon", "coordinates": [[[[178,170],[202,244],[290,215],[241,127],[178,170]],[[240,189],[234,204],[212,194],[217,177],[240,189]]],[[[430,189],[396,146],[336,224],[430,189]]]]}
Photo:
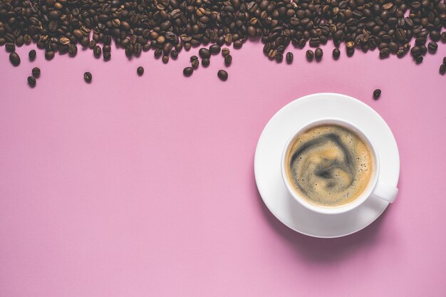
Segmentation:
{"type": "MultiPolygon", "coordinates": [[[[20,64],[16,46],[31,42],[45,51],[47,60],[56,52],[76,56],[80,46],[108,61],[114,41],[129,57],[152,49],[168,63],[183,48],[212,43],[199,53],[209,59],[224,44],[242,48],[249,38],[260,38],[265,55],[279,63],[290,43],[297,48],[308,43],[316,53],[308,50],[307,58],[320,59],[319,46],[328,40],[334,43],[336,59],[343,44],[347,56],[378,48],[380,58],[410,52],[421,63],[427,53],[437,51],[438,41],[446,42],[442,28],[444,0],[0,1],[0,46],[6,46],[14,66],[20,64]]],[[[32,59],[35,55],[29,54],[32,59]]],[[[224,57],[229,66],[232,57],[224,57]]],[[[292,56],[286,61],[291,63],[292,56]]],[[[192,68],[199,64],[193,63],[192,68]]]]}

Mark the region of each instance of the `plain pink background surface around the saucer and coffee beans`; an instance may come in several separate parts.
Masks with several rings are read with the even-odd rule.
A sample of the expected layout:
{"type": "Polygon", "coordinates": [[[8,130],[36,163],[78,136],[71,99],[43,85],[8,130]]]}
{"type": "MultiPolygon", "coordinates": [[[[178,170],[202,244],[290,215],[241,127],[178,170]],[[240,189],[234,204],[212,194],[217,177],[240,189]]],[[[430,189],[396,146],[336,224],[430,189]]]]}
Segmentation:
{"type": "Polygon", "coordinates": [[[183,77],[196,49],[165,66],[22,47],[14,68],[1,48],[0,296],[445,296],[446,46],[420,66],[327,48],[289,66],[245,44],[226,83],[221,56],[183,77]],[[372,106],[400,148],[397,201],[341,239],[291,231],[254,182],[264,125],[318,92],[372,106]]]}

